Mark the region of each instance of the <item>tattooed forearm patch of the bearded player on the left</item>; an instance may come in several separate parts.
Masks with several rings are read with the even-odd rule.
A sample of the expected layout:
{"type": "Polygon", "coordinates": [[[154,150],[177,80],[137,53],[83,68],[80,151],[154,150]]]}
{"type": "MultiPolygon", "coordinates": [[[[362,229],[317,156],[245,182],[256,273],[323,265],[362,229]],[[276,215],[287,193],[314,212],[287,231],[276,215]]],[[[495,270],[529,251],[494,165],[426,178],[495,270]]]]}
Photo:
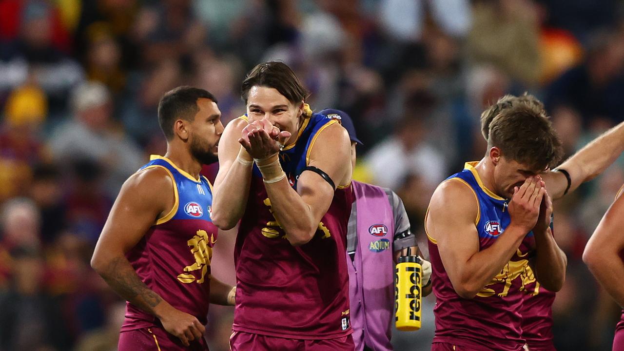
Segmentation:
{"type": "Polygon", "coordinates": [[[142,310],[154,313],[154,307],[162,298],[139,279],[125,257],[115,257],[110,261],[102,277],[117,294],[142,310]]]}

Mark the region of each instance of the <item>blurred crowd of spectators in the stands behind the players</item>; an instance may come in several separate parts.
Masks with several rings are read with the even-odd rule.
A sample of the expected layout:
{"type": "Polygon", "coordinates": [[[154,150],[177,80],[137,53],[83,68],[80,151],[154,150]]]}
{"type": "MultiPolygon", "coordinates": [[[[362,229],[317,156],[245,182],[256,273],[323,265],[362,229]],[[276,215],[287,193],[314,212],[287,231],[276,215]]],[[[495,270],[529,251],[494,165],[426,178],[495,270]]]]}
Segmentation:
{"type": "MultiPolygon", "coordinates": [[[[245,72],[276,59],[315,111],[353,117],[354,177],[402,197],[425,249],[429,197],[483,156],[480,112],[500,96],[542,99],[568,156],[624,121],[621,0],[0,0],[1,351],[115,350],[124,303],[89,260],[121,184],[165,152],[158,100],[207,89],[225,124],[245,72]]],[[[623,170],[555,202],[559,350],[610,349],[620,309],[581,255],[623,170]]],[[[213,258],[230,284],[234,235],[213,258]]],[[[431,299],[396,350],[428,350],[431,299]]],[[[211,309],[210,349],[228,350],[232,308],[211,309]]]]}

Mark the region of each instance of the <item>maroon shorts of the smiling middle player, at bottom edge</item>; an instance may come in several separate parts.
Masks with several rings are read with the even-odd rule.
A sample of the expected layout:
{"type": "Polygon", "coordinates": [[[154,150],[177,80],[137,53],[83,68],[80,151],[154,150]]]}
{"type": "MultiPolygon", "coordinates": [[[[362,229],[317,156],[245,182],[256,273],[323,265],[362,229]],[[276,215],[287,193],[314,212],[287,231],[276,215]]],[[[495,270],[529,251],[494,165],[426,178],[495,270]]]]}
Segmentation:
{"type": "Polygon", "coordinates": [[[346,337],[323,340],[286,339],[246,332],[233,332],[230,337],[231,351],[351,351],[354,349],[351,334],[346,337]]]}

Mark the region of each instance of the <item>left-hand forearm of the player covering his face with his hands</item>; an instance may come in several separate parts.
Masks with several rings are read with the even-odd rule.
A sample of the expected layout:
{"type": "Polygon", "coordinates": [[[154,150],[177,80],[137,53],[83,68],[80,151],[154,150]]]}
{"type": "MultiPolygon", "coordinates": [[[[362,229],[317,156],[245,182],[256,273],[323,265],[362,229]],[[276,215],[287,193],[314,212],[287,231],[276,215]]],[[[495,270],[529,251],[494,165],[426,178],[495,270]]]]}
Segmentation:
{"type": "Polygon", "coordinates": [[[475,252],[460,269],[457,294],[472,299],[504,269],[520,246],[526,232],[510,225],[492,246],[475,252]]]}

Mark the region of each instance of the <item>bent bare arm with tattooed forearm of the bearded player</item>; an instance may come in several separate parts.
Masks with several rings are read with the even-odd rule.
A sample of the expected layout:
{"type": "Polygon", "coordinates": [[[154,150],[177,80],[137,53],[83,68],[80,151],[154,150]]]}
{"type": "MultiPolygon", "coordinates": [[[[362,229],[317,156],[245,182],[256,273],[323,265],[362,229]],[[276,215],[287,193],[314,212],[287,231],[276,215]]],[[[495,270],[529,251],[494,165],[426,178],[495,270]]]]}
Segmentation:
{"type": "Polygon", "coordinates": [[[203,325],[149,289],[125,257],[156,220],[173,208],[174,201],[172,179],[165,170],[155,167],[132,175],[110,210],[95,245],[91,267],[117,294],[155,315],[167,332],[188,346],[190,341],[202,337],[203,325]]]}

